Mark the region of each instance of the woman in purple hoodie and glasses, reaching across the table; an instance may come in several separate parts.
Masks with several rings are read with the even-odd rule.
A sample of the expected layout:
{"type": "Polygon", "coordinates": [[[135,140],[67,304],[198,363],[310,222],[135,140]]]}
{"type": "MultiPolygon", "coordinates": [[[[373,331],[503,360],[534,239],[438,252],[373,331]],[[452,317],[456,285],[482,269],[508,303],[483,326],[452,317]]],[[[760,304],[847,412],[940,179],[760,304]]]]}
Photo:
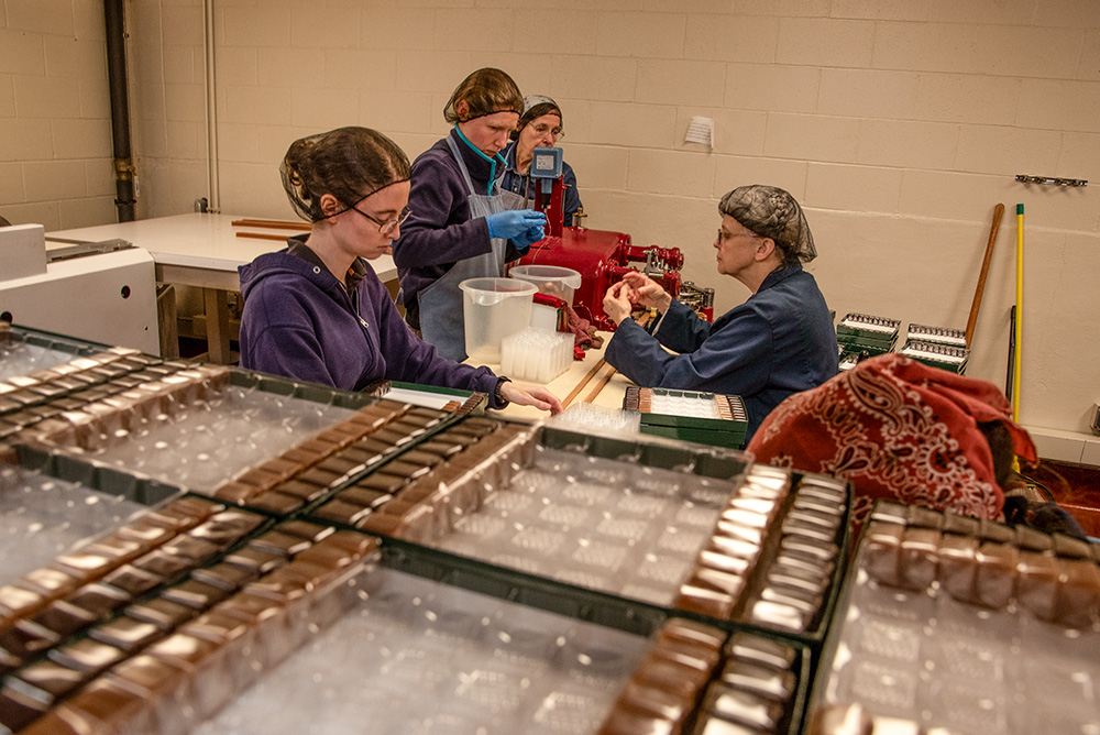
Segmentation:
{"type": "Polygon", "coordinates": [[[477,391],[558,413],[542,387],[440,356],[409,331],[367,261],[408,218],[409,161],[382,133],[340,128],[295,141],[280,167],[299,217],[287,248],[242,265],[241,366],[359,391],[381,380],[477,391]]]}

